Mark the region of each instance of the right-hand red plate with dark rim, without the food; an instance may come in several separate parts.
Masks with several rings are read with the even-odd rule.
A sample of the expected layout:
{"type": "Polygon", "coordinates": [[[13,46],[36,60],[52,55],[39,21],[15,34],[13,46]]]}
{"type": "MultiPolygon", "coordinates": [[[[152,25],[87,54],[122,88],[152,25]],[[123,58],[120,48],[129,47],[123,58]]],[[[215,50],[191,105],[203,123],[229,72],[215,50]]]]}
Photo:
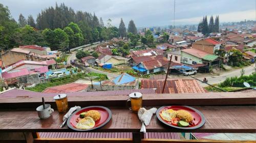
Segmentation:
{"type": "Polygon", "coordinates": [[[162,106],[160,108],[158,108],[157,112],[156,112],[157,118],[158,120],[160,120],[162,123],[164,123],[165,125],[174,127],[174,128],[179,128],[179,129],[197,129],[200,128],[204,125],[205,123],[205,118],[202,112],[200,112],[199,110],[193,108],[193,107],[189,107],[189,106],[178,106],[178,105],[174,105],[174,106],[162,106]],[[193,122],[195,123],[195,125],[189,125],[188,127],[179,127],[179,126],[174,126],[172,125],[172,122],[168,122],[165,121],[161,118],[160,113],[163,110],[167,110],[167,109],[173,109],[173,110],[186,110],[189,113],[191,113],[191,115],[193,116],[193,118],[195,119],[193,122]]]}

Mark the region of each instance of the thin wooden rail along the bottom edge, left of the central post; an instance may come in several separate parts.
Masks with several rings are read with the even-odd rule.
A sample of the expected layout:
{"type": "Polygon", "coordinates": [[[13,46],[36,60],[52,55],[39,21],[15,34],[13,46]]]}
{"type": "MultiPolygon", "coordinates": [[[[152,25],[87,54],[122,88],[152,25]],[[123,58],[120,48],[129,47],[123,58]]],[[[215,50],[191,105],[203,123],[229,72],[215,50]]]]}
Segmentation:
{"type": "Polygon", "coordinates": [[[36,138],[34,139],[34,143],[131,143],[132,138],[36,138]]]}

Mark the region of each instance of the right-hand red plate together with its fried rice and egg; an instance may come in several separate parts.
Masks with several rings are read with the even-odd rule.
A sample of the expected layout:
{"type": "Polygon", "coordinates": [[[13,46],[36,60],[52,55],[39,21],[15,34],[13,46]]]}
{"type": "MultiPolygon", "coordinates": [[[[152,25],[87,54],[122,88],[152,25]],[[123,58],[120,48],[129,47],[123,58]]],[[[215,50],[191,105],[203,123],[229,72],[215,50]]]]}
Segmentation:
{"type": "Polygon", "coordinates": [[[162,106],[156,115],[163,124],[178,129],[197,129],[205,123],[203,113],[189,106],[162,106]]]}

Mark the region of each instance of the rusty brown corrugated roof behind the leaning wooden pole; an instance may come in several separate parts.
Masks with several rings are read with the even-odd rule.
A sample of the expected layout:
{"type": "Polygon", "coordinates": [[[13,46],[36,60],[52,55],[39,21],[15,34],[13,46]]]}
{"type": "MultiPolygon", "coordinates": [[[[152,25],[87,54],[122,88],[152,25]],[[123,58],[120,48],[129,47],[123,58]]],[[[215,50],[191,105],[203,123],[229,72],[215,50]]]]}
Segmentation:
{"type": "MultiPolygon", "coordinates": [[[[141,89],[156,88],[156,93],[161,94],[163,84],[163,79],[141,80],[141,89]]],[[[164,93],[206,93],[206,91],[196,79],[167,79],[164,93]]]]}

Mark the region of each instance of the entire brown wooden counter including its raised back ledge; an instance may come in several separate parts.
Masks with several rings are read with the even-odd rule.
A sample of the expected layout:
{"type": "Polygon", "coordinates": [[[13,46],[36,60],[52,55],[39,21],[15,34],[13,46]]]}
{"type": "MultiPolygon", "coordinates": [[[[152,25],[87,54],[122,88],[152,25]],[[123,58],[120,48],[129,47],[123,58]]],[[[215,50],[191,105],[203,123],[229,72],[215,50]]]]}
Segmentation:
{"type": "MultiPolygon", "coordinates": [[[[255,92],[254,92],[255,93],[255,92]]],[[[186,103],[186,105],[195,105],[194,108],[200,110],[205,118],[206,123],[203,127],[196,130],[181,130],[172,127],[167,127],[158,121],[157,117],[154,115],[149,126],[146,127],[147,132],[211,132],[211,133],[255,133],[256,132],[256,108],[255,108],[255,96],[252,94],[234,93],[233,96],[236,98],[230,98],[228,94],[211,94],[211,100],[209,95],[193,95],[188,94],[183,97],[178,97],[177,95],[167,96],[147,96],[145,99],[146,105],[150,106],[161,106],[166,105],[166,102],[174,104],[174,101],[178,103],[186,103]],[[193,96],[191,96],[193,95],[193,96]],[[207,98],[208,97],[208,98],[207,98]],[[197,100],[195,100],[197,98],[197,100]],[[163,102],[160,102],[163,101],[163,102]],[[198,102],[196,102],[198,101],[198,102]],[[206,101],[212,101],[207,105],[206,101]],[[226,103],[225,103],[225,102],[226,103]],[[230,101],[230,102],[228,102],[230,101]],[[249,104],[246,104],[249,103],[249,104]],[[231,104],[231,105],[230,105],[231,104]],[[241,105],[243,104],[243,105],[241,105]],[[213,106],[216,105],[216,106],[213,106]],[[226,105],[226,106],[225,106],[226,105]]],[[[112,111],[111,121],[100,129],[94,130],[93,132],[133,132],[133,140],[140,142],[141,134],[139,132],[141,123],[138,119],[136,113],[128,110],[124,101],[127,99],[125,96],[120,96],[117,100],[117,96],[113,98],[106,98],[103,102],[102,97],[93,97],[93,105],[109,105],[112,111]],[[117,102],[117,105],[122,106],[110,106],[115,105],[113,103],[117,102]],[[122,104],[120,104],[121,102],[122,104]],[[103,104],[101,104],[103,103],[103,104]]],[[[55,104],[54,101],[47,102],[50,104],[55,104]]],[[[30,107],[30,109],[1,109],[0,110],[0,132],[73,132],[69,129],[67,125],[60,128],[62,123],[63,113],[58,113],[54,111],[53,115],[45,120],[40,120],[37,116],[37,112],[34,110],[35,105],[38,104],[40,99],[30,98],[27,99],[1,99],[0,108],[7,107],[8,103],[11,103],[15,107],[14,103],[19,103],[20,105],[26,104],[24,107],[30,107]],[[37,101],[38,102],[35,102],[37,101]],[[15,102],[8,102],[15,101],[15,102]],[[27,101],[27,103],[26,103],[27,101]],[[29,102],[28,102],[29,101],[29,102]],[[31,102],[30,102],[31,101],[31,102]],[[33,102],[32,102],[33,101],[33,102]],[[2,102],[2,103],[1,103],[2,102]],[[32,109],[33,107],[33,109],[32,109]]],[[[88,97],[75,97],[69,98],[69,103],[80,105],[84,107],[90,103],[90,98],[88,97]],[[79,102],[76,100],[79,98],[79,102]]],[[[176,103],[177,103],[176,102],[176,103]]],[[[92,104],[92,103],[91,103],[92,104]]],[[[90,104],[90,105],[91,105],[90,104]]],[[[10,104],[9,104],[10,105],[10,104]]],[[[30,134],[31,137],[31,134],[30,134]]],[[[29,141],[28,141],[29,142],[29,141]]]]}

